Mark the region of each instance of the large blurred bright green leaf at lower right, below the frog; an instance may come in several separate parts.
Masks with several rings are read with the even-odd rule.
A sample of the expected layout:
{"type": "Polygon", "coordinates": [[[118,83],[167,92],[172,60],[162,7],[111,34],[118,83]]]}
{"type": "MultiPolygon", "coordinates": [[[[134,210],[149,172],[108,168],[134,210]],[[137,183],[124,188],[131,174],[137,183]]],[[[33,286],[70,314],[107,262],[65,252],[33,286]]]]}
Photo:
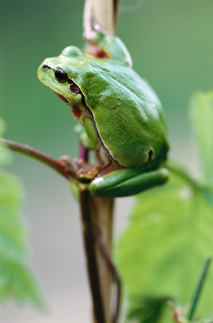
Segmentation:
{"type": "MultiPolygon", "coordinates": [[[[213,209],[198,188],[171,173],[167,184],[138,195],[116,255],[130,312],[139,308],[134,299],[140,296],[142,300],[136,322],[173,322],[171,307],[165,307],[164,300],[189,305],[203,261],[213,255],[213,209]],[[161,313],[159,320],[147,320],[146,313],[156,311],[161,313]]],[[[210,266],[196,308],[202,319],[212,316],[212,290],[210,266]]]]}

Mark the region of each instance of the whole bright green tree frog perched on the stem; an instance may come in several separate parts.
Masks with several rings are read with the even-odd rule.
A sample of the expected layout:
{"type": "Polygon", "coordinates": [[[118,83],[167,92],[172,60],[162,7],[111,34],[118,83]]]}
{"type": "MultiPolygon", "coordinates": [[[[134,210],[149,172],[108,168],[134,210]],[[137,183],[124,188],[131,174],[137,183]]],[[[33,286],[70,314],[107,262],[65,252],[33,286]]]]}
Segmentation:
{"type": "Polygon", "coordinates": [[[100,170],[90,192],[128,196],[166,182],[168,171],[161,165],[168,143],[160,100],[131,68],[120,38],[97,31],[90,44],[93,57],[69,46],[38,68],[41,82],[71,106],[83,144],[99,151],[102,164],[113,165],[108,173],[100,170]]]}

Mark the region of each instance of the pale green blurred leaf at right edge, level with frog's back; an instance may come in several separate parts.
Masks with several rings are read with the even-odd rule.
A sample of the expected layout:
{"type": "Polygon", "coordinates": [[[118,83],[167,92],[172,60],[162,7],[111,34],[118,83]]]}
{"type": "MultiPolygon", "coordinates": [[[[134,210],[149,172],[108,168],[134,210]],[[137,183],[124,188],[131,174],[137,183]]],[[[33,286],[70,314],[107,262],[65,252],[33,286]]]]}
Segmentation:
{"type": "Polygon", "coordinates": [[[213,176],[213,91],[196,92],[189,104],[203,175],[213,176]]]}

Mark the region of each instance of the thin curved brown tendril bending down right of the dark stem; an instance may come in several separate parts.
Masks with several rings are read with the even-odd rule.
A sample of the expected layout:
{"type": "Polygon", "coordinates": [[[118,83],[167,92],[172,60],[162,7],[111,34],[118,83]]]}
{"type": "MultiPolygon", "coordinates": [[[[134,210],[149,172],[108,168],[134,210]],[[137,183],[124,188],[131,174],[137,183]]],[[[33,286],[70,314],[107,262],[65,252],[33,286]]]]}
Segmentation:
{"type": "Polygon", "coordinates": [[[96,241],[98,243],[98,246],[99,246],[99,249],[102,253],[102,256],[104,257],[106,263],[107,263],[107,266],[109,267],[110,271],[111,271],[111,274],[114,278],[114,280],[116,281],[117,283],[117,297],[116,297],[116,306],[115,306],[115,311],[112,315],[112,323],[116,323],[117,322],[117,319],[118,319],[118,316],[119,316],[119,312],[120,312],[120,301],[121,301],[121,279],[119,277],[119,274],[117,272],[117,269],[115,268],[112,260],[111,260],[111,257],[109,255],[109,253],[107,252],[106,250],[106,247],[104,246],[103,242],[102,242],[102,239],[101,239],[101,236],[100,234],[96,233],[95,234],[95,238],[96,238],[96,241]]]}

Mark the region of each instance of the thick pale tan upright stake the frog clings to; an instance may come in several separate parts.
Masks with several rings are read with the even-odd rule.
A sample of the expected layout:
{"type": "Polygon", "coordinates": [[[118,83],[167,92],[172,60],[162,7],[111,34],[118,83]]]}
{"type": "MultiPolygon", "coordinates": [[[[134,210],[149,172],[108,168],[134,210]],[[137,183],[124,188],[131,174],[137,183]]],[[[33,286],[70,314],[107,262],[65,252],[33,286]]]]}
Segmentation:
{"type": "MultiPolygon", "coordinates": [[[[83,26],[86,38],[91,31],[95,29],[93,28],[95,27],[93,25],[94,22],[98,23],[100,27],[105,29],[109,34],[114,34],[118,3],[119,0],[85,0],[83,26]]],[[[115,267],[111,262],[110,256],[106,257],[106,255],[111,254],[113,199],[100,197],[91,197],[91,199],[91,207],[94,216],[93,223],[97,228],[103,247],[101,248],[102,250],[100,250],[100,244],[99,248],[98,246],[96,247],[96,259],[98,265],[98,276],[100,279],[100,291],[103,301],[104,318],[106,323],[111,322],[110,301],[112,275],[117,279],[118,285],[117,305],[115,314],[112,318],[113,322],[116,322],[119,312],[121,283],[115,267]],[[112,266],[109,266],[109,264],[112,266]]],[[[96,321],[95,318],[94,321],[96,321]]]]}

